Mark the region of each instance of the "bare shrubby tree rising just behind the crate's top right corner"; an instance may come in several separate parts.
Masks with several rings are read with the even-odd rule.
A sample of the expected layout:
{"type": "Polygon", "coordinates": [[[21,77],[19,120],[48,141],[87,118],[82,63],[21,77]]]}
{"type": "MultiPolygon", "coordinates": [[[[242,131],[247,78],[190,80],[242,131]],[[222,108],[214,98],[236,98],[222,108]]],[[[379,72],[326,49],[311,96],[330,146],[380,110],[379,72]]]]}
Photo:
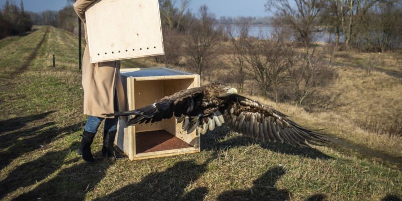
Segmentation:
{"type": "Polygon", "coordinates": [[[217,42],[221,34],[214,27],[214,23],[215,15],[208,12],[207,6],[201,6],[199,19],[192,24],[184,40],[189,56],[187,63],[199,75],[216,61],[217,42]]]}

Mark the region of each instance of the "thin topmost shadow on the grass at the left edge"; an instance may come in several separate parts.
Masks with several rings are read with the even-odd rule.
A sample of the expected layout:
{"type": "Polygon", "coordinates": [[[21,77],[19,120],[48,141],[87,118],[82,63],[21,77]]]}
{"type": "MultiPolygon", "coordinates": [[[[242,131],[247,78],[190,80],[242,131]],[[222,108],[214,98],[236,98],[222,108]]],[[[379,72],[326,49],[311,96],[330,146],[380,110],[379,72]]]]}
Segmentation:
{"type": "Polygon", "coordinates": [[[42,114],[30,115],[30,116],[26,116],[26,117],[17,117],[17,118],[13,118],[13,119],[0,121],[0,125],[2,125],[2,127],[0,127],[0,134],[18,130],[30,122],[42,120],[54,112],[56,112],[56,111],[49,111],[49,112],[42,113],[42,114]]]}

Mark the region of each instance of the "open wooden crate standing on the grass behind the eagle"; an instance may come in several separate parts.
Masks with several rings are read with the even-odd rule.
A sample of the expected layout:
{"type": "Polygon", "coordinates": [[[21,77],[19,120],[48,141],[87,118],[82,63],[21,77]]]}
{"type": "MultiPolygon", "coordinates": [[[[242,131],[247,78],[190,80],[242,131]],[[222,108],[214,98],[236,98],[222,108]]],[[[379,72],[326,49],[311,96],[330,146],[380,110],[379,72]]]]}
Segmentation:
{"type": "MultiPolygon", "coordinates": [[[[127,92],[128,109],[134,110],[154,103],[177,91],[199,86],[199,75],[169,68],[121,69],[127,92]]],[[[199,152],[199,136],[183,131],[176,118],[161,122],[128,126],[119,120],[115,144],[130,160],[173,156],[199,152]]]]}

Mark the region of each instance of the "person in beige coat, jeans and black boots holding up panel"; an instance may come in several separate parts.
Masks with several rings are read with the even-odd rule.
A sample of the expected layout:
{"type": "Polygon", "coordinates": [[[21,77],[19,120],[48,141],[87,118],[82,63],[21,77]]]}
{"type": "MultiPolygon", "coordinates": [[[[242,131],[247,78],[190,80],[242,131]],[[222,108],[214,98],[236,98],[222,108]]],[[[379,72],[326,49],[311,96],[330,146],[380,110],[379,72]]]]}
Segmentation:
{"type": "Polygon", "coordinates": [[[113,144],[117,133],[118,117],[106,117],[104,114],[126,111],[126,97],[120,78],[120,61],[90,63],[89,60],[85,11],[94,2],[95,0],[76,0],[73,4],[75,13],[83,22],[86,40],[82,59],[82,88],[84,90],[84,114],[89,115],[89,118],[78,147],[78,153],[86,162],[95,162],[90,146],[104,119],[106,120],[102,156],[115,156],[113,144]]]}

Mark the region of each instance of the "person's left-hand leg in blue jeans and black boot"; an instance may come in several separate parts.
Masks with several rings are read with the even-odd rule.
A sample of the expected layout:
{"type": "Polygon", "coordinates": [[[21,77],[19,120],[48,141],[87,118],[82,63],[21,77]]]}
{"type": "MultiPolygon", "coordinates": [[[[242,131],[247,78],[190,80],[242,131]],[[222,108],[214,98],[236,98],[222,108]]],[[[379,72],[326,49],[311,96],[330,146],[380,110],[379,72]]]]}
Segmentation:
{"type": "Polygon", "coordinates": [[[84,132],[82,133],[81,144],[78,147],[78,154],[82,155],[82,159],[86,162],[95,162],[91,153],[91,144],[95,137],[96,131],[104,118],[90,116],[86,121],[84,132]]]}

